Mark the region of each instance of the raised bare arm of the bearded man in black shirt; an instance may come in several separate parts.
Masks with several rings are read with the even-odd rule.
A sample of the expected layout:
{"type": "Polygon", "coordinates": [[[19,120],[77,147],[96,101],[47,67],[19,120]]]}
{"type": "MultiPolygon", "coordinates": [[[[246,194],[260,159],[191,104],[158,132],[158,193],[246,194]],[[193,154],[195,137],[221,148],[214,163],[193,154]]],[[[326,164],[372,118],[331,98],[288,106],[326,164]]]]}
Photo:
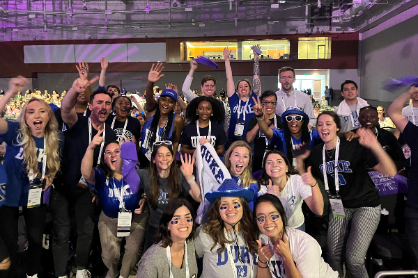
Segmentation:
{"type": "Polygon", "coordinates": [[[72,83],[72,87],[65,94],[63,101],[61,103],[61,117],[65,124],[71,128],[77,122],[77,113],[75,112],[75,104],[77,102],[77,97],[79,92],[84,92],[88,86],[98,81],[99,77],[95,76],[91,81],[87,79],[75,79],[72,83]]]}

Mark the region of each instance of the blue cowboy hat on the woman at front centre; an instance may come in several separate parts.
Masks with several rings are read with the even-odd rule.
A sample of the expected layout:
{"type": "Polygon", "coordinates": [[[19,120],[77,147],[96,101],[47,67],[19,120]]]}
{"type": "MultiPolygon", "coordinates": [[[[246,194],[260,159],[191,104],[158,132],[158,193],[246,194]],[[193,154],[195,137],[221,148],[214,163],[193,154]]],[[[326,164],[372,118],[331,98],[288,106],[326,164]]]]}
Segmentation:
{"type": "Polygon", "coordinates": [[[217,190],[206,193],[205,197],[210,204],[220,197],[243,197],[247,202],[252,202],[254,194],[251,188],[240,188],[233,179],[225,179],[217,190]]]}

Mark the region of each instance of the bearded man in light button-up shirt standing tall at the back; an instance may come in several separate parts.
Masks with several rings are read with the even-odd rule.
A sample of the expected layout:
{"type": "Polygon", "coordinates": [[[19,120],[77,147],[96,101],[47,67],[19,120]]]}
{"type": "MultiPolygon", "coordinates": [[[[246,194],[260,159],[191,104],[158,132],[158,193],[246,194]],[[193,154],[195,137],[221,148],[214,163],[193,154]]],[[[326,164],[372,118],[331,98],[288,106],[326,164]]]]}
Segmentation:
{"type": "Polygon", "coordinates": [[[286,112],[290,106],[298,106],[304,109],[304,112],[309,116],[309,129],[315,125],[314,106],[312,106],[311,98],[304,92],[293,89],[293,83],[295,82],[295,70],[292,67],[282,67],[279,70],[279,82],[281,84],[281,90],[276,92],[277,106],[276,115],[281,116],[286,112]]]}

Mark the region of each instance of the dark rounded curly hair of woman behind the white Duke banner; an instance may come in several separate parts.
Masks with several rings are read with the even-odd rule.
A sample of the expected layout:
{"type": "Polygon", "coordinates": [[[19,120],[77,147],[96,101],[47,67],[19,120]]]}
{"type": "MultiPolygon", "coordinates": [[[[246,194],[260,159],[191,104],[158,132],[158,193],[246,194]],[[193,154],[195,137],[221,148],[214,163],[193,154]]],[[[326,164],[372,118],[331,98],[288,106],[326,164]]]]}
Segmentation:
{"type": "Polygon", "coordinates": [[[215,97],[196,97],[190,101],[186,109],[186,117],[191,122],[196,122],[199,120],[199,115],[197,115],[197,108],[202,101],[208,101],[212,105],[212,115],[210,115],[210,120],[221,124],[225,119],[225,111],[222,107],[222,104],[215,97]]]}

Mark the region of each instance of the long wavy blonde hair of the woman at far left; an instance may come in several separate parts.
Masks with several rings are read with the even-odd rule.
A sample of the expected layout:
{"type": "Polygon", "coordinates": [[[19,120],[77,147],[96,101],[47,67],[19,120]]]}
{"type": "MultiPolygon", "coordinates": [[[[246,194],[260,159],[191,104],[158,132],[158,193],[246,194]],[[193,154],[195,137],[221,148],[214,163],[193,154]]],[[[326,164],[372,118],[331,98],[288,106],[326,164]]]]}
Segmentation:
{"type": "Polygon", "coordinates": [[[49,115],[49,121],[45,126],[45,149],[47,155],[47,172],[45,176],[54,178],[56,172],[59,171],[60,157],[59,157],[59,136],[58,136],[58,122],[56,122],[54,111],[52,111],[49,104],[43,99],[37,99],[32,97],[22,107],[22,111],[17,118],[17,122],[20,124],[19,133],[17,134],[17,145],[23,148],[23,162],[26,163],[26,172],[29,173],[33,170],[33,174],[40,177],[38,170],[38,156],[36,156],[36,144],[32,138],[31,129],[26,124],[25,114],[26,108],[32,101],[39,101],[47,110],[49,115]]]}

